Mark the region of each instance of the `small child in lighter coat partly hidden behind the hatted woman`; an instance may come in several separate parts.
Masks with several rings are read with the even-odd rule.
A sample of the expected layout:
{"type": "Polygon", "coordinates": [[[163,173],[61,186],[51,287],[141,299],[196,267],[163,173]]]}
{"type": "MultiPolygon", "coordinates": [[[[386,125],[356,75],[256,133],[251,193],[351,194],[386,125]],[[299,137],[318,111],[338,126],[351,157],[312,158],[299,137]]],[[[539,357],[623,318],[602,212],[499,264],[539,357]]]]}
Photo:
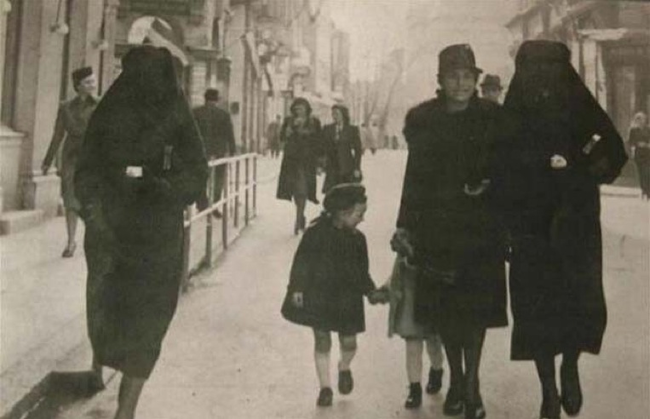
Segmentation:
{"type": "Polygon", "coordinates": [[[422,405],[422,353],[426,344],[431,367],[427,394],[437,394],[442,388],[443,354],[440,335],[430,325],[415,321],[415,290],[417,268],[409,263],[413,259],[413,246],[404,236],[395,236],[391,241],[398,253],[393,272],[381,289],[388,291],[390,310],[388,315],[388,336],[398,334],[406,342],[406,375],[409,380],[409,394],[404,403],[407,409],[422,405]]]}

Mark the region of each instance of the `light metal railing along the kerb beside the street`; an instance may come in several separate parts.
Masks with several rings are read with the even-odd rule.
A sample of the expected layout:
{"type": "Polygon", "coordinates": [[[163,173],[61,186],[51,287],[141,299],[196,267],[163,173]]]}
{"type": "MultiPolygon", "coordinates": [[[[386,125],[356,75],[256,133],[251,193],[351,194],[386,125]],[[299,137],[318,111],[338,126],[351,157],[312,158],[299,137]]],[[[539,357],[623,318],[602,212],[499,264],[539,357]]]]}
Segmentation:
{"type": "Polygon", "coordinates": [[[212,267],[220,251],[228,249],[240,231],[257,216],[257,160],[256,153],[248,153],[209,162],[207,207],[198,211],[191,206],[185,211],[183,290],[187,290],[190,276],[199,269],[212,267]],[[219,176],[223,176],[223,191],[215,201],[214,184],[219,176]],[[215,211],[221,212],[221,219],[213,217],[215,211]]]}

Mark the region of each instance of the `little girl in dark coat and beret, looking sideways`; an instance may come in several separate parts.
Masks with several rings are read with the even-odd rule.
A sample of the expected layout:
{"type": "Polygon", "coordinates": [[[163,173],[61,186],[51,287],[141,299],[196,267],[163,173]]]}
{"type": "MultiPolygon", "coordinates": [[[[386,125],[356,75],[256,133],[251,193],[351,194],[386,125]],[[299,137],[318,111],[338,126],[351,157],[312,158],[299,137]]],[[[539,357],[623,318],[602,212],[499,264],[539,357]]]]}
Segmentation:
{"type": "Polygon", "coordinates": [[[330,332],[338,332],[341,360],[338,389],[353,388],[350,363],[357,350],[356,334],[365,331],[363,296],[379,298],[368,273],[366,238],[357,225],[366,212],[365,188],[337,185],[325,196],[323,214],[305,232],[291,267],[282,315],[314,331],[315,361],[320,394],[318,406],[332,404],[330,332]]]}

